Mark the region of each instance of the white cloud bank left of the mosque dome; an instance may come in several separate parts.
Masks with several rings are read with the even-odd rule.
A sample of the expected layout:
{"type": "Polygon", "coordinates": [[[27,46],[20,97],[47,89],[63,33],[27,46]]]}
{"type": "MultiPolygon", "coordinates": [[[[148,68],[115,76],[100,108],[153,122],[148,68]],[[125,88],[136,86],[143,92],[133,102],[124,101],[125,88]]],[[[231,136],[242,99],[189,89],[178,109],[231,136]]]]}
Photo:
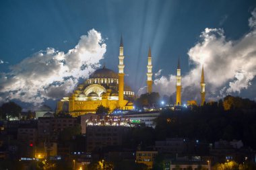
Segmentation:
{"type": "Polygon", "coordinates": [[[36,52],[9,67],[9,73],[0,73],[1,101],[19,99],[38,105],[45,99],[59,99],[99,66],[105,52],[106,44],[94,29],[67,53],[55,48],[36,52]]]}

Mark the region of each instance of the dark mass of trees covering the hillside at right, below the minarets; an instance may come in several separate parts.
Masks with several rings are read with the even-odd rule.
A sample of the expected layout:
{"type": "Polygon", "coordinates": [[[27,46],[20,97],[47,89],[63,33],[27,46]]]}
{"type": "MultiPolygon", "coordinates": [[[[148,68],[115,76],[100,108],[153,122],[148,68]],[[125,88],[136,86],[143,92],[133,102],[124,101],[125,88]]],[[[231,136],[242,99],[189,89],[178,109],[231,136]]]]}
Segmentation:
{"type": "Polygon", "coordinates": [[[156,139],[181,137],[206,142],[236,139],[256,148],[256,110],[247,109],[248,105],[240,105],[224,110],[219,101],[201,107],[193,105],[181,112],[166,110],[156,119],[156,139]]]}

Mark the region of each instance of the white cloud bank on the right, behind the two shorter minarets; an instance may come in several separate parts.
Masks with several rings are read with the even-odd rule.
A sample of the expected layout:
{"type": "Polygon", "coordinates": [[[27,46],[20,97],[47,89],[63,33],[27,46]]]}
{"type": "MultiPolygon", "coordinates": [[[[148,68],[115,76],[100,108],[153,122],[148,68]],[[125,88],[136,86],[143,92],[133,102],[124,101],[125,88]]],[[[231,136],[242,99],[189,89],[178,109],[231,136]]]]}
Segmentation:
{"type": "MultiPolygon", "coordinates": [[[[239,40],[226,40],[224,30],[218,28],[205,28],[201,32],[199,42],[187,52],[194,67],[182,77],[183,101],[200,99],[202,65],[208,99],[240,93],[252,84],[256,75],[256,9],[251,14],[251,30],[239,40]]],[[[175,76],[169,75],[156,79],[154,87],[162,95],[173,95],[175,83],[175,76]]]]}

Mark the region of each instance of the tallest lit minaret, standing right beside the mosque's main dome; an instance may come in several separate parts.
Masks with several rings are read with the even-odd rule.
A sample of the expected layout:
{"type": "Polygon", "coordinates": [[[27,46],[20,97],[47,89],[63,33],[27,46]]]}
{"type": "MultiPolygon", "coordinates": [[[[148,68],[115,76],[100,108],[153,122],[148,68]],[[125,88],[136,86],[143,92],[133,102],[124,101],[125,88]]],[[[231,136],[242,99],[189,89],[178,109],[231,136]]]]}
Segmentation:
{"type": "Polygon", "coordinates": [[[125,65],[123,65],[123,59],[125,56],[123,56],[123,36],[121,36],[121,42],[119,47],[119,109],[123,110],[123,86],[124,86],[124,77],[125,73],[123,72],[123,69],[125,68],[125,65]]]}

